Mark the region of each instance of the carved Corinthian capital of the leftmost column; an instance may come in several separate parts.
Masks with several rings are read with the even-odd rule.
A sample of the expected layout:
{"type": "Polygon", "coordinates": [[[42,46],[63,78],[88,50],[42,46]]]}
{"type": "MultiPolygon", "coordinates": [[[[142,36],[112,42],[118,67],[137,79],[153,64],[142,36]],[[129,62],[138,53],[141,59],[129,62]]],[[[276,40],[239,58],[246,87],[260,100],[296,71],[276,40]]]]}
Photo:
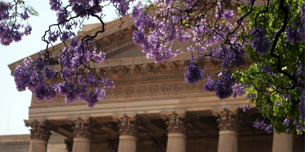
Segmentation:
{"type": "Polygon", "coordinates": [[[51,133],[51,130],[56,130],[55,126],[52,126],[50,122],[47,120],[39,120],[36,119],[33,121],[24,121],[25,126],[30,126],[31,129],[31,140],[32,139],[38,139],[38,140],[44,140],[48,142],[51,133]]]}

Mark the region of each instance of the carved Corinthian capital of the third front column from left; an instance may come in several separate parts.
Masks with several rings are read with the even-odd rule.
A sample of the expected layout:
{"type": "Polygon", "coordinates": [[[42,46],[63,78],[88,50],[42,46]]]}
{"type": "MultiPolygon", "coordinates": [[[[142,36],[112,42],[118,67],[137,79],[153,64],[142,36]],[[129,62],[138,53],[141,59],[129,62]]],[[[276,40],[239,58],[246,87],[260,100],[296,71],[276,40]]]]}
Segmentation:
{"type": "Polygon", "coordinates": [[[129,135],[137,137],[139,131],[142,130],[140,123],[142,122],[137,118],[137,115],[128,117],[124,114],[123,117],[113,117],[113,121],[118,123],[117,127],[119,128],[119,135],[129,135]]]}

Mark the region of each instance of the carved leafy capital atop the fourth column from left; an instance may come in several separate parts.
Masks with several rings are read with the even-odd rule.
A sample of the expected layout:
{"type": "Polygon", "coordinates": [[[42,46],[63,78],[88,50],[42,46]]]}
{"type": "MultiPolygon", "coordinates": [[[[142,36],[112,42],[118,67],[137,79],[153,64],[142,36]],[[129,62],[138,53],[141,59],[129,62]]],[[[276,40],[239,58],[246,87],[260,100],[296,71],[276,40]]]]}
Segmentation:
{"type": "Polygon", "coordinates": [[[186,112],[177,113],[173,111],[171,115],[162,114],[161,118],[167,120],[167,131],[168,133],[180,133],[187,134],[188,128],[191,127],[191,124],[187,122],[186,112]]]}

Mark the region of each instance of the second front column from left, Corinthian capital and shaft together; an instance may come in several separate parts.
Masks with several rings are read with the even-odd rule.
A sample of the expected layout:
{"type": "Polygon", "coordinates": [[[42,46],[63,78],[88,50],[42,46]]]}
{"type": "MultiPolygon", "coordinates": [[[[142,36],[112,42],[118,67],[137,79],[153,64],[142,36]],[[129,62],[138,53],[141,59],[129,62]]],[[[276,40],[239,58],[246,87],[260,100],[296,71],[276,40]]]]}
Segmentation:
{"type": "Polygon", "coordinates": [[[72,152],[89,152],[95,128],[100,126],[90,121],[89,118],[81,119],[79,117],[77,120],[68,121],[73,126],[72,152]]]}

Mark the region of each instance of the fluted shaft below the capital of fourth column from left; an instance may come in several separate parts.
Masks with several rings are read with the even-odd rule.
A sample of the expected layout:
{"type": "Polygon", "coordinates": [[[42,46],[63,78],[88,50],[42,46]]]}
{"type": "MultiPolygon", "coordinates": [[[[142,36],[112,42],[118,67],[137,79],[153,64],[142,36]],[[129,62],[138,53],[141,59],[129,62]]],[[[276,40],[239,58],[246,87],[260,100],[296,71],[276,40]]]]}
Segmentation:
{"type": "Polygon", "coordinates": [[[167,134],[166,152],[185,152],[187,148],[187,135],[181,133],[167,134]]]}

